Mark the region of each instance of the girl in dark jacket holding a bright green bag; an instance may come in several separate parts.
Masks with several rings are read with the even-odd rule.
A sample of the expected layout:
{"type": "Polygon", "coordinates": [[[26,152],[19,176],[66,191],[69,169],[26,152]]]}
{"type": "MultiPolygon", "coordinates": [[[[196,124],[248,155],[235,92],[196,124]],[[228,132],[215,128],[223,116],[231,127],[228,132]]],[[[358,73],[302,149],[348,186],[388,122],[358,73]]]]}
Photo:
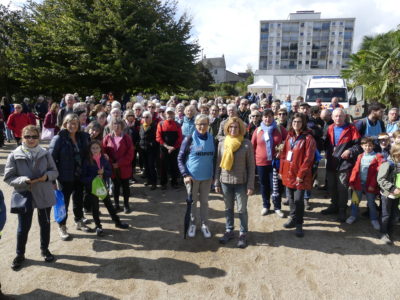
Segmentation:
{"type": "MultiPolygon", "coordinates": [[[[92,181],[98,175],[105,180],[111,176],[112,171],[110,163],[102,153],[100,141],[91,141],[89,144],[89,150],[89,159],[86,159],[83,162],[82,181],[86,185],[87,191],[89,191],[88,199],[92,207],[93,220],[96,224],[96,234],[102,236],[104,231],[99,218],[99,198],[91,193],[92,181]]],[[[103,202],[111,216],[111,219],[115,222],[115,226],[123,229],[128,228],[128,224],[121,223],[108,195],[103,199],[103,202]]]]}

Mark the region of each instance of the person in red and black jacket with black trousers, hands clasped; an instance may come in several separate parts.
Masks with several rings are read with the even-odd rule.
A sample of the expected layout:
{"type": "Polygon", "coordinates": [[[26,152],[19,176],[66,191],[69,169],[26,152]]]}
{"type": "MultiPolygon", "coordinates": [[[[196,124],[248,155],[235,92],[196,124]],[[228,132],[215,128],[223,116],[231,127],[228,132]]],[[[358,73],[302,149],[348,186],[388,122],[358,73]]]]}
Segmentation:
{"type": "Polygon", "coordinates": [[[173,107],[166,109],[167,119],[157,125],[156,140],[160,144],[161,161],[161,189],[167,189],[168,177],[171,176],[171,185],[178,188],[178,153],[182,143],[181,126],[175,121],[173,107]]]}

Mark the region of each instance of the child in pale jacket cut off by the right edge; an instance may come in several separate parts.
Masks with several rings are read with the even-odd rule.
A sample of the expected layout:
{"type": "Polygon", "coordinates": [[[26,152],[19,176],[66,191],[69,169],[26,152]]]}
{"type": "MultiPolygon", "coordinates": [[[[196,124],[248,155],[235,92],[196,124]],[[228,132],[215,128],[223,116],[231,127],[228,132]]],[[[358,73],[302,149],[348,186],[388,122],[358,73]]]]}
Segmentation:
{"type": "Polygon", "coordinates": [[[390,157],[379,168],[377,180],[382,199],[381,241],[391,244],[390,233],[400,197],[400,144],[392,145],[390,157]]]}

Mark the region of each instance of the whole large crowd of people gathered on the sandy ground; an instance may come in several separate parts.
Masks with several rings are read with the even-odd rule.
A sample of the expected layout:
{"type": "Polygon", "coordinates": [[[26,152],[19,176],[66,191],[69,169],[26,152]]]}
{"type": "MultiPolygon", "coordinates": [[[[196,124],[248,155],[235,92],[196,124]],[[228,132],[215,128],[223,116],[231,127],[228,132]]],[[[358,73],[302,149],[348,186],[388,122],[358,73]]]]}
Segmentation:
{"type": "Polygon", "coordinates": [[[78,95],[66,94],[60,103],[39,97],[33,106],[29,99],[10,104],[4,97],[0,142],[15,139],[18,145],[8,156],[4,181],[14,188],[12,197],[22,195],[30,203],[25,212],[18,213],[12,268],[19,269],[25,260],[35,208],[41,254],[47,262],[54,260],[48,247],[55,188],[63,193],[67,212],[57,222],[62,240],[72,238],[67,229],[71,198],[77,230],[104,235],[100,202],[117,228],[128,228],[118,213],[132,211],[130,185],[138,181],[137,173],[150,191],[185,185],[193,199],[187,231],[191,238],[197,228],[205,238],[212,236],[208,198],[215,191],[225,201],[226,229],[219,242],[235,238],[236,202],[237,247],[245,248],[247,200],[254,193],[255,181],[260,187],[261,215],[275,213],[284,218],[282,205],[289,205],[283,226],[295,228],[295,235],[303,237],[304,211],[312,209],[311,191],[323,155],[326,180],[319,185],[328,190],[331,201],[321,213],[337,214],[339,222],[352,224],[359,218],[359,203],[365,195],[373,229],[390,244],[399,217],[398,109],[389,109],[386,117],[385,106],[371,103],[367,117],[352,121],[337,98],[310,107],[302,97],[291,100],[288,95],[279,101],[253,96],[191,101],[172,96],[160,101],[138,95],[134,101],[118,102],[112,94],[100,101],[94,97],[79,101],[78,95]],[[50,140],[47,149],[39,145],[41,138],[50,140]],[[92,191],[98,177],[109,191],[101,199],[92,191]],[[94,229],[88,226],[89,213],[94,229]]]}

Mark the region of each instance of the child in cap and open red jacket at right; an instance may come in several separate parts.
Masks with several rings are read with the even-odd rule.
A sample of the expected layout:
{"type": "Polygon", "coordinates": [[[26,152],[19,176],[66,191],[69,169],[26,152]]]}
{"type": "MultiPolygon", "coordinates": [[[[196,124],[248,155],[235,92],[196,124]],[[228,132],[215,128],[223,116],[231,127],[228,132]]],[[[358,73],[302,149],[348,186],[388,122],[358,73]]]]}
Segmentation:
{"type": "Polygon", "coordinates": [[[358,206],[364,193],[367,197],[369,216],[375,230],[379,230],[378,214],[375,199],[379,194],[376,175],[380,165],[385,161],[382,154],[374,152],[374,141],[371,137],[361,139],[361,147],[364,153],[357,157],[357,162],[350,175],[349,186],[353,189],[351,216],[347,218],[347,224],[353,224],[358,217],[358,206]]]}

